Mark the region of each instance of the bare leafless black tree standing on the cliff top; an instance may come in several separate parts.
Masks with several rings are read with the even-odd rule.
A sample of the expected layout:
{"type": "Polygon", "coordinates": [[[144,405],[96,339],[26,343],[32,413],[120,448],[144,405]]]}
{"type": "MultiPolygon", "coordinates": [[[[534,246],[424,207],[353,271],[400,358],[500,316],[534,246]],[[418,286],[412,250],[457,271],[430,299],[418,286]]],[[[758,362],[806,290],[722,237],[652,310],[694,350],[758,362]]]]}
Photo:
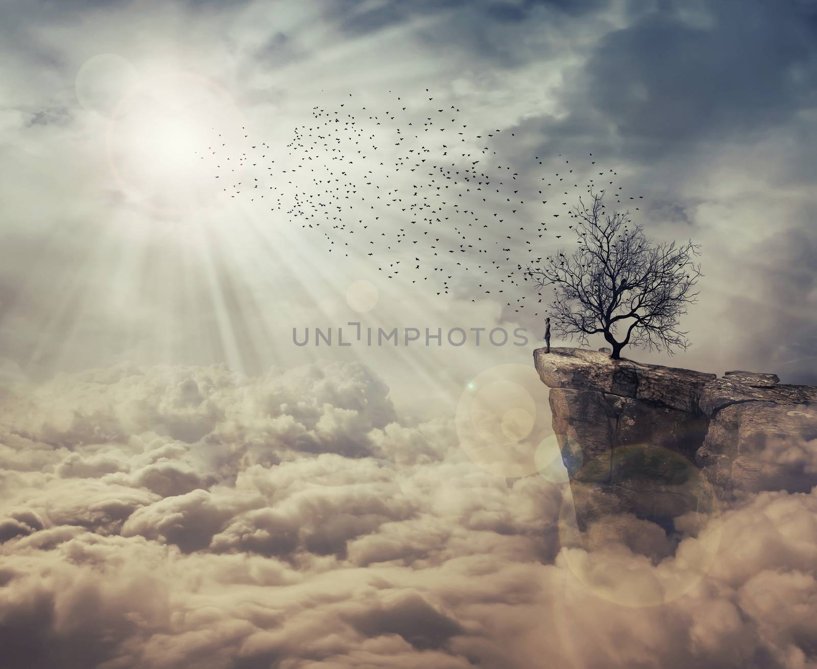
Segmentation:
{"type": "Polygon", "coordinates": [[[678,330],[678,318],[686,304],[697,302],[698,293],[690,289],[703,276],[693,263],[700,245],[654,244],[641,224],[628,230],[628,212],[605,212],[605,191],[590,195],[590,209],[579,198],[570,214],[578,242],[574,253],[568,257],[559,249],[525,267],[538,290],[554,286],[553,330],[569,339],[578,334],[583,345],[589,335],[603,334],[617,360],[628,343],[670,355],[673,347],[686,350],[688,333],[678,330]],[[626,328],[623,336],[619,328],[626,328]]]}

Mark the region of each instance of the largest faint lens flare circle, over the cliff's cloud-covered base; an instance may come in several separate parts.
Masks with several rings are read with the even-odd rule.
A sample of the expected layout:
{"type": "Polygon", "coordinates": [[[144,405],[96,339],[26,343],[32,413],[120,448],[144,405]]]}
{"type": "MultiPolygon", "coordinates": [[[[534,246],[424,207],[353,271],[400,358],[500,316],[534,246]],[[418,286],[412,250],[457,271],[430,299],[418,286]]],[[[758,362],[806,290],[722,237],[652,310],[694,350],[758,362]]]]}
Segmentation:
{"type": "Polygon", "coordinates": [[[720,505],[701,470],[680,454],[619,447],[588,462],[565,488],[559,536],[557,564],[595,595],[658,606],[688,593],[712,568],[720,505]]]}

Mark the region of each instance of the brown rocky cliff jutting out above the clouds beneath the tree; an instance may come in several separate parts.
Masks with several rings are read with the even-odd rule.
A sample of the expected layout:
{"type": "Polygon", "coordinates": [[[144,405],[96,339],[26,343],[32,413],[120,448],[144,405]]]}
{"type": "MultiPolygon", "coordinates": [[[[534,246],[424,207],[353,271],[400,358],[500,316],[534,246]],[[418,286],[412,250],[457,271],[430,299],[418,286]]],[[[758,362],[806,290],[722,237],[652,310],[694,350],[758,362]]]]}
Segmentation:
{"type": "Polygon", "coordinates": [[[817,485],[815,387],[579,348],[538,348],[534,361],[580,523],[631,512],[671,526],[743,491],[817,485]]]}

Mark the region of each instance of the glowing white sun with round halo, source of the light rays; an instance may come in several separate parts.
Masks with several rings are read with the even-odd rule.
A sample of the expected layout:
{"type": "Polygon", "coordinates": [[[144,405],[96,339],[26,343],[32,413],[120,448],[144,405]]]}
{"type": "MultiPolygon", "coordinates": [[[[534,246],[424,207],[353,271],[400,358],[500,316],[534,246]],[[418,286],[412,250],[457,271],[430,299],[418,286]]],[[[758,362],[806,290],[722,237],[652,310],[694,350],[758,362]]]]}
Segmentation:
{"type": "Polygon", "coordinates": [[[133,201],[185,215],[224,192],[218,177],[229,173],[230,160],[238,163],[243,125],[234,101],[208,79],[184,73],[140,79],[109,119],[111,173],[133,201]]]}

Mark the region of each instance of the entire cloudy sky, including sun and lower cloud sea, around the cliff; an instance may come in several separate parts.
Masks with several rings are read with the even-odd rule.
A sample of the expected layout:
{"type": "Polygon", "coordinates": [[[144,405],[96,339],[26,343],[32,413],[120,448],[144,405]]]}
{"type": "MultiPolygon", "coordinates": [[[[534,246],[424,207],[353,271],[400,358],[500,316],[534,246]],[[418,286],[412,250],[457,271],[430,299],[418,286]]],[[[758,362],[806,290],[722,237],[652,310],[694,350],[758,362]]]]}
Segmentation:
{"type": "MultiPolygon", "coordinates": [[[[523,194],[568,161],[581,179],[592,164],[614,172],[636,197],[632,221],[699,244],[703,272],[681,317],[690,348],[623,355],[817,384],[817,3],[0,0],[0,12],[10,667],[812,666],[815,496],[758,492],[681,546],[635,519],[584,552],[561,546],[535,294],[525,309],[526,286],[503,282],[500,298],[493,280],[486,294],[472,254],[446,292],[380,268],[408,263],[404,250],[346,256],[349,236],[333,236],[329,252],[290,206],[312,186],[289,145],[342,104],[386,137],[382,111],[400,96],[413,128],[453,106],[485,141],[469,136],[469,157],[515,174],[523,194]],[[213,185],[212,152],[199,160],[219,131],[234,161],[265,143],[288,206],[213,185]],[[341,346],[350,321],[511,336],[341,346]],[[333,345],[316,346],[315,328],[333,345]],[[297,346],[293,329],[313,339],[297,346]],[[712,537],[714,563],[684,571],[683,551],[712,537]],[[667,572],[682,593],[656,599],[667,572]]],[[[402,148],[383,144],[377,163],[402,148]]],[[[348,178],[361,193],[364,178],[410,185],[405,170],[386,186],[360,165],[348,178]]],[[[520,209],[534,257],[560,241],[530,223],[547,216],[555,234],[566,221],[553,213],[581,192],[520,209]]],[[[488,218],[505,191],[473,195],[488,218]]],[[[373,229],[397,236],[404,218],[382,204],[373,229]]],[[[364,214],[355,201],[349,215],[364,214]]],[[[504,238],[484,232],[488,248],[504,238]]],[[[770,449],[815,470],[802,444],[770,449]]]]}

